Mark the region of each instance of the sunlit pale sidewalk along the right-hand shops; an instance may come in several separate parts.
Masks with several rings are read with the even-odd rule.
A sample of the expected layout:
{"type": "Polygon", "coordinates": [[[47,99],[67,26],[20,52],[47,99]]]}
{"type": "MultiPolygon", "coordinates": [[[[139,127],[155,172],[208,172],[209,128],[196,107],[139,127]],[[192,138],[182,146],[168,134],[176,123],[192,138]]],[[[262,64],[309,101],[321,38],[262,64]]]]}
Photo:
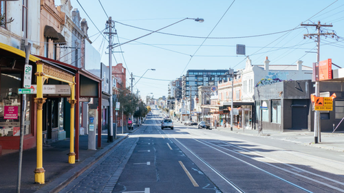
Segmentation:
{"type": "Polygon", "coordinates": [[[230,130],[230,128],[217,127],[213,128],[213,130],[221,130],[226,131],[228,133],[235,133],[239,135],[268,137],[271,139],[290,141],[296,144],[302,144],[304,146],[313,146],[316,148],[344,152],[344,132],[337,131],[333,134],[323,132],[321,133],[321,143],[314,144],[314,132],[309,132],[305,130],[284,130],[283,132],[263,130],[261,134],[258,133],[258,130],[244,130],[242,128],[233,128],[233,130],[230,130]]]}

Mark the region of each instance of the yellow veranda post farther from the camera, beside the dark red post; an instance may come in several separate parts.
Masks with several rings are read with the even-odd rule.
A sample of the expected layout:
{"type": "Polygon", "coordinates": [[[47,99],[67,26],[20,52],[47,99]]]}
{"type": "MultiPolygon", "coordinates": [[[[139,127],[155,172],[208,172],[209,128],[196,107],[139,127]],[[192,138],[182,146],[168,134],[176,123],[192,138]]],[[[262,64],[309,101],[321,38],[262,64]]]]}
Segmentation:
{"type": "Polygon", "coordinates": [[[68,163],[75,163],[75,152],[74,152],[74,105],[76,104],[76,100],[74,98],[75,94],[75,76],[73,77],[73,83],[69,84],[69,87],[72,90],[70,95],[70,148],[68,154],[68,163]]]}

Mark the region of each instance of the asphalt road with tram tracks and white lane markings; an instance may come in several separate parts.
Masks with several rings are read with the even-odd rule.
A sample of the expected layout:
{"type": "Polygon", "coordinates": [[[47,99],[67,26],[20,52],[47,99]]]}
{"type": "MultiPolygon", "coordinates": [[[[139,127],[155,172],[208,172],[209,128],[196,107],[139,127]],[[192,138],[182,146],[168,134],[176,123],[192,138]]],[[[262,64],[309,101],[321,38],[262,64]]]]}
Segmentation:
{"type": "Polygon", "coordinates": [[[161,120],[153,111],[61,192],[344,192],[343,152],[161,120]]]}

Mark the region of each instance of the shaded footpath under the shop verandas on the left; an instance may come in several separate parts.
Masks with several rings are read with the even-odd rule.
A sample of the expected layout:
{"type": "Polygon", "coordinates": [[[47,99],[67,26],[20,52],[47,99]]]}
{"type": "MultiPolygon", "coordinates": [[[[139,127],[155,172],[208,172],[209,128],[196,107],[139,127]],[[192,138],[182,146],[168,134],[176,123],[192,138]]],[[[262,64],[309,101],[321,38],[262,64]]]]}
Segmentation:
{"type": "MultiPolygon", "coordinates": [[[[118,135],[113,142],[107,142],[107,130],[102,132],[101,148],[87,150],[88,135],[79,136],[79,161],[68,163],[69,139],[56,141],[43,146],[43,168],[45,170],[45,184],[34,183],[34,170],[36,168],[36,148],[23,151],[23,164],[21,169],[21,193],[30,192],[57,192],[69,181],[72,181],[87,168],[92,166],[109,150],[125,139],[128,133],[136,131],[119,127],[118,135]]],[[[96,139],[98,139],[96,137],[96,139]]],[[[0,156],[0,192],[17,192],[17,179],[19,168],[19,152],[0,156]]]]}

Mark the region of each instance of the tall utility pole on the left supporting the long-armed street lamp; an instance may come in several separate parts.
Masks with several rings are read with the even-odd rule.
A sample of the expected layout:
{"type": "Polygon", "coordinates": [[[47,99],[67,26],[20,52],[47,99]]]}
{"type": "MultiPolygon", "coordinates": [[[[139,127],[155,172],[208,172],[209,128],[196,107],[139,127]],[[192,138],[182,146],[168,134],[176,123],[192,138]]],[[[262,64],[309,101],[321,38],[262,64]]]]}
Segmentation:
{"type": "MultiPolygon", "coordinates": [[[[109,101],[109,130],[107,132],[107,136],[109,138],[109,141],[114,141],[114,128],[113,128],[113,117],[114,117],[114,104],[112,102],[112,47],[114,46],[112,44],[112,35],[117,34],[116,32],[112,32],[112,24],[113,21],[111,19],[111,16],[109,17],[109,20],[107,21],[107,27],[109,27],[109,32],[105,32],[104,34],[109,34],[109,89],[110,89],[110,101],[109,101]]],[[[115,134],[116,135],[116,134],[115,134]]]]}

